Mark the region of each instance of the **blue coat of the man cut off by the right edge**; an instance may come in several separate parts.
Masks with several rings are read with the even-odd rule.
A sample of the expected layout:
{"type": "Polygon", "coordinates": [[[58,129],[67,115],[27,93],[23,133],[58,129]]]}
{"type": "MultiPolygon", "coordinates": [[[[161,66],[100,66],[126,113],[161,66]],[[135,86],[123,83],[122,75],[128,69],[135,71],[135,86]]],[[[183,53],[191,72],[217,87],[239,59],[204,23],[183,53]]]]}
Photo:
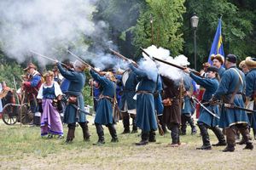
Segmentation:
{"type": "MultiPolygon", "coordinates": [[[[253,92],[256,90],[256,69],[253,69],[247,73],[246,77],[246,96],[251,97],[253,92]]],[[[255,108],[255,101],[253,103],[253,110],[256,110],[255,108]]],[[[251,124],[251,127],[256,128],[256,116],[255,113],[248,113],[247,114],[249,122],[251,124]]]]}

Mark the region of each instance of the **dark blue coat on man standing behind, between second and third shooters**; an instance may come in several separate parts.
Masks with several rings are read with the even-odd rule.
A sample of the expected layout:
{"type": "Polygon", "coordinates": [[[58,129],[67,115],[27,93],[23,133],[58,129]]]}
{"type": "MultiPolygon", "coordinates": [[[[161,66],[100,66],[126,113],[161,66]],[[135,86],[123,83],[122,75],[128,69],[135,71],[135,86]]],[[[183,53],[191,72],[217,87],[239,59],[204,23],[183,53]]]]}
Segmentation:
{"type": "Polygon", "coordinates": [[[125,82],[125,84],[123,83],[122,78],[121,78],[121,81],[118,82],[118,85],[121,86],[123,90],[132,90],[132,91],[122,93],[119,109],[120,111],[124,111],[125,100],[127,100],[128,110],[136,109],[137,102],[135,99],[133,99],[133,97],[135,95],[135,89],[138,83],[137,76],[133,71],[130,71],[129,77],[125,82]]]}

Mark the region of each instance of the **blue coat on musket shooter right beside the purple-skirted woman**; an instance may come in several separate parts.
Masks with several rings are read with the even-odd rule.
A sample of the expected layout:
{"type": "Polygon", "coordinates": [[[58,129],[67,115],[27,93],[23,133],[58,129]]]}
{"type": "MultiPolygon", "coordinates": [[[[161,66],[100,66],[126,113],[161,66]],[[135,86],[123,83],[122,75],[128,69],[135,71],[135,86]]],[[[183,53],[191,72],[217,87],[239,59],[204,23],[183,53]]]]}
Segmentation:
{"type": "MultiPolygon", "coordinates": [[[[61,75],[70,81],[67,88],[67,94],[71,96],[79,96],[75,105],[79,106],[80,110],[84,111],[84,97],[82,94],[85,83],[84,71],[66,71],[62,68],[59,62],[57,62],[56,65],[58,66],[61,75]]],[[[73,122],[87,122],[87,120],[84,113],[76,110],[72,105],[67,105],[63,122],[69,124],[73,122]]]]}

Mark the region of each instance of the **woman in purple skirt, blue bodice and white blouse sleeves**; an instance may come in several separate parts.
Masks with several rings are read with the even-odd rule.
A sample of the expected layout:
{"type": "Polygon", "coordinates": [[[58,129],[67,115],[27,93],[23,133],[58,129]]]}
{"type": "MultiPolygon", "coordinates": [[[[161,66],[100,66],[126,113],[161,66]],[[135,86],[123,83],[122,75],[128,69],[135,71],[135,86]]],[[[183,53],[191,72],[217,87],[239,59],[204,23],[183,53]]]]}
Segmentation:
{"type": "Polygon", "coordinates": [[[54,82],[54,73],[47,71],[44,73],[44,84],[38,91],[38,105],[41,116],[41,136],[48,135],[51,139],[53,134],[58,135],[58,139],[63,139],[63,127],[59,111],[62,111],[61,88],[54,82]]]}

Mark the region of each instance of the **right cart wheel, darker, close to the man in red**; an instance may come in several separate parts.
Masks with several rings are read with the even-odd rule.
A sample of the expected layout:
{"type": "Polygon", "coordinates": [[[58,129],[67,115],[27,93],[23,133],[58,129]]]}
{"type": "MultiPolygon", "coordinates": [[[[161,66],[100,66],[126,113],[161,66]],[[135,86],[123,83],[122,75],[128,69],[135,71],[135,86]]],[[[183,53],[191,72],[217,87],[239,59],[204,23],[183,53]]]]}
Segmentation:
{"type": "MultiPolygon", "coordinates": [[[[22,124],[28,124],[30,122],[32,122],[33,119],[33,113],[30,111],[30,107],[28,106],[27,103],[23,104],[20,106],[20,109],[22,109],[21,111],[21,122],[22,124]]],[[[19,110],[19,117],[18,117],[19,121],[20,121],[20,110],[19,110]]]]}

